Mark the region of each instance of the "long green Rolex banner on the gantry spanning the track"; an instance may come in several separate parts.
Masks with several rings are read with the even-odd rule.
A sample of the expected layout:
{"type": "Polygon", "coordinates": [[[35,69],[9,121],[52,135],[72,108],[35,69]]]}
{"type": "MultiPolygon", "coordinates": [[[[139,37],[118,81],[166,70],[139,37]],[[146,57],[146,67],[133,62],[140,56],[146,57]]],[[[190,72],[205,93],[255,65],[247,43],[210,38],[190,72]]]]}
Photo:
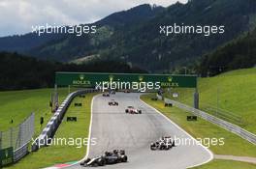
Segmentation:
{"type": "Polygon", "coordinates": [[[97,73],[97,72],[56,72],[58,86],[78,86],[94,88],[102,82],[133,83],[146,82],[161,88],[196,88],[196,75],[145,74],[145,73],[97,73]]]}

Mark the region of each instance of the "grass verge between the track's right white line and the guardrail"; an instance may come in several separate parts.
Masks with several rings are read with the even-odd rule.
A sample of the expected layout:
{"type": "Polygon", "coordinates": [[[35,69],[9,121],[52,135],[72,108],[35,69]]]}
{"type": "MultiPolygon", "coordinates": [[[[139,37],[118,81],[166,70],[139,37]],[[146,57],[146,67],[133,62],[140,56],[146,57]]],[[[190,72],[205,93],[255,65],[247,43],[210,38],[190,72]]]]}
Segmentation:
{"type": "Polygon", "coordinates": [[[197,122],[187,122],[186,116],[191,115],[176,107],[165,107],[162,100],[153,101],[151,98],[154,94],[142,96],[146,103],[152,105],[179,127],[185,129],[195,138],[224,138],[224,146],[211,146],[209,149],[216,155],[240,155],[256,156],[256,146],[240,138],[221,127],[217,127],[209,122],[199,118],[197,122]]]}

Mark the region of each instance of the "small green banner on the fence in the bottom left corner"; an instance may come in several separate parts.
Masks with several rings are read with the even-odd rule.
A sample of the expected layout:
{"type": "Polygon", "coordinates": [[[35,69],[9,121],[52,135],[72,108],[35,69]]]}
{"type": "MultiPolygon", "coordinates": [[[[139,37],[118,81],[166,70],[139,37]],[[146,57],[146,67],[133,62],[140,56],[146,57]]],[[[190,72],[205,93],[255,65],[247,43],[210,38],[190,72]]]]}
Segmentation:
{"type": "Polygon", "coordinates": [[[0,167],[12,164],[14,162],[14,148],[0,150],[0,167]]]}

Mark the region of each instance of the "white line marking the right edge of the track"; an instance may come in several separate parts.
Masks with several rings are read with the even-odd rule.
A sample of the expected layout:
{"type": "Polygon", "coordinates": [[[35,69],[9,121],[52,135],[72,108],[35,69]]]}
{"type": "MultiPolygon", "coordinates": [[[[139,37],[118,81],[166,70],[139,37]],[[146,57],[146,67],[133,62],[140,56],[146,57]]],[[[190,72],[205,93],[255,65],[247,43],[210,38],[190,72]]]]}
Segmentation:
{"type": "MultiPolygon", "coordinates": [[[[161,116],[163,116],[166,120],[168,120],[171,124],[173,124],[175,127],[177,127],[178,129],[180,129],[181,131],[183,131],[187,136],[189,136],[191,139],[195,140],[196,142],[198,142],[192,135],[190,135],[188,132],[186,132],[183,128],[177,126],[171,119],[169,119],[167,116],[165,116],[164,114],[162,114],[160,111],[158,111],[156,108],[154,108],[153,106],[147,104],[146,102],[144,102],[144,100],[141,99],[141,96],[139,96],[139,99],[145,104],[147,105],[148,107],[150,107],[151,109],[155,110],[157,113],[159,113],[161,116]]],[[[202,146],[209,154],[209,159],[205,162],[202,162],[200,164],[196,164],[196,165],[193,165],[193,166],[189,166],[187,168],[193,168],[193,167],[198,167],[198,166],[201,166],[201,165],[204,165],[206,163],[208,163],[209,161],[211,161],[213,159],[213,154],[211,151],[208,150],[207,147],[203,146],[202,144],[199,144],[200,146],[202,146]]]]}

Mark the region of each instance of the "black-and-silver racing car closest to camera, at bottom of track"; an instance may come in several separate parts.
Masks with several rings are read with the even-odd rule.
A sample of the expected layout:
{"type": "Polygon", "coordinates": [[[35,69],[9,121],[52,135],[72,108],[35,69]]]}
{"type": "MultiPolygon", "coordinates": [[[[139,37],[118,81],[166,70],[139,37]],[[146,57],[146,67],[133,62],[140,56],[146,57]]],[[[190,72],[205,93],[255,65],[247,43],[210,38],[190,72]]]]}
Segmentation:
{"type": "Polygon", "coordinates": [[[98,157],[87,158],[84,161],[80,162],[80,165],[84,167],[97,167],[108,164],[127,162],[127,160],[128,157],[127,155],[125,155],[124,150],[114,150],[112,152],[105,152],[104,155],[98,157]]]}

